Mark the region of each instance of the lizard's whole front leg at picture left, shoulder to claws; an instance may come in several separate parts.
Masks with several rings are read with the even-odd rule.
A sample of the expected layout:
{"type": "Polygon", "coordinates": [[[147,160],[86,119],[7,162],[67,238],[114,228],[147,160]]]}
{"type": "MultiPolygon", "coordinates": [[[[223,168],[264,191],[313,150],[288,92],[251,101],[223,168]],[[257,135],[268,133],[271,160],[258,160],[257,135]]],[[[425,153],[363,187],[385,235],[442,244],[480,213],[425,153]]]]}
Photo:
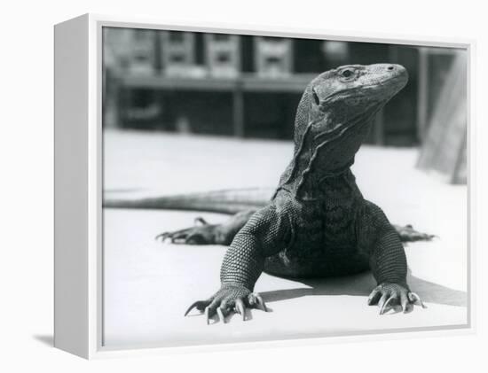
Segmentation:
{"type": "Polygon", "coordinates": [[[275,206],[267,206],[253,214],[246,225],[234,237],[224,255],[220,270],[221,287],[206,300],[198,300],[193,307],[210,317],[219,315],[222,322],[232,310],[245,320],[246,307],[261,307],[266,311],[264,300],[254,293],[254,286],[264,268],[264,259],[278,253],[287,242],[289,221],[279,214],[275,206]]]}

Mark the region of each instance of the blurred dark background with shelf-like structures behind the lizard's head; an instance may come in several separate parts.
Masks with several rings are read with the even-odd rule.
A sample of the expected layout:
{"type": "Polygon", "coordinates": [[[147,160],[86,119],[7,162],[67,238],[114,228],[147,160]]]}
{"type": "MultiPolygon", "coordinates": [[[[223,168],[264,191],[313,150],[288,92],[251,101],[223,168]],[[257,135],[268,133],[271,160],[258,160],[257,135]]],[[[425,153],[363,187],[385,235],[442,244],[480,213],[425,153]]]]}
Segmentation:
{"type": "Polygon", "coordinates": [[[104,27],[105,129],[291,141],[306,84],[346,64],[397,63],[410,80],[368,144],[418,147],[417,167],[467,181],[466,51],[104,27]]]}

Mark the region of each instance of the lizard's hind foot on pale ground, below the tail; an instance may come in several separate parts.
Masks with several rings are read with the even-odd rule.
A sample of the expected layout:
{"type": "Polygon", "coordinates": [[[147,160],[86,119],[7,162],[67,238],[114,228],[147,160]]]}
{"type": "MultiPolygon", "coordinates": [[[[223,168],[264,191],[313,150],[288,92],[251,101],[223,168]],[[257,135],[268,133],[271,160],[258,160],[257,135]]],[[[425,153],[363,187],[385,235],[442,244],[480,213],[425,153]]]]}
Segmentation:
{"type": "Polygon", "coordinates": [[[224,237],[219,224],[209,224],[203,218],[195,219],[195,226],[192,228],[163,232],[156,237],[161,242],[170,240],[172,244],[184,245],[222,245],[224,237]]]}

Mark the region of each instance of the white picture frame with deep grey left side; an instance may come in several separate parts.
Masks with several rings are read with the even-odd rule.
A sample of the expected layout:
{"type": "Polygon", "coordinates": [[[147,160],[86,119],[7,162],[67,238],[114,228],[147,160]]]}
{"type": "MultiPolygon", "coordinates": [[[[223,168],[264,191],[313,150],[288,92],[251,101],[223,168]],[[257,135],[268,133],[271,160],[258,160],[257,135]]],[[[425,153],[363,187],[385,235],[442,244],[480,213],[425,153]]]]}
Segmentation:
{"type": "Polygon", "coordinates": [[[412,338],[431,335],[465,334],[475,331],[473,304],[475,249],[468,227],[468,322],[466,325],[423,330],[355,332],[324,338],[240,342],[219,345],[114,349],[103,346],[103,252],[102,171],[101,171],[101,92],[102,27],[138,27],[181,31],[232,33],[315,38],[338,41],[415,44],[429,47],[463,48],[468,53],[468,222],[475,215],[470,161],[473,130],[470,116],[473,81],[471,40],[409,39],[405,36],[337,34],[322,30],[249,29],[246,26],[170,24],[157,19],[85,14],[55,26],[55,287],[54,346],[86,359],[168,354],[215,349],[261,348],[323,344],[344,340],[412,338]]]}

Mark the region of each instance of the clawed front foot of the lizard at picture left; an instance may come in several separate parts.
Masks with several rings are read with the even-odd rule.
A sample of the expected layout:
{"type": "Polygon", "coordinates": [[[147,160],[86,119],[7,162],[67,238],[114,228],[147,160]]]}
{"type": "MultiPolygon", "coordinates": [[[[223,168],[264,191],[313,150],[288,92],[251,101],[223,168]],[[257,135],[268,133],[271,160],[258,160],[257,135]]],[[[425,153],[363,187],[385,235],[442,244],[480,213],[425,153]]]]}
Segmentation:
{"type": "Polygon", "coordinates": [[[207,324],[210,318],[218,315],[221,322],[225,323],[225,316],[232,311],[242,316],[242,321],[246,321],[246,308],[261,308],[264,312],[268,308],[264,304],[263,298],[256,292],[251,292],[240,284],[223,284],[219,291],[207,300],[197,300],[185,312],[185,316],[193,308],[205,314],[207,324]]]}

